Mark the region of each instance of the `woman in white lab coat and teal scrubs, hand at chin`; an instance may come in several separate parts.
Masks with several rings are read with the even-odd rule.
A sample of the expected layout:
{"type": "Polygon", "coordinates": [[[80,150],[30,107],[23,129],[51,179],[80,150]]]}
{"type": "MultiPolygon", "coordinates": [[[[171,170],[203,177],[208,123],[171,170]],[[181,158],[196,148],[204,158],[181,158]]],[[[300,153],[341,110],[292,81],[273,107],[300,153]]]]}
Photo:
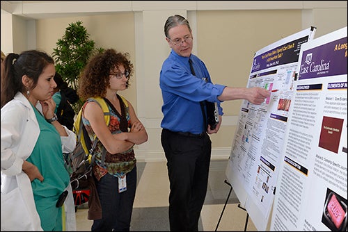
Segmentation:
{"type": "Polygon", "coordinates": [[[76,136],[54,115],[54,60],[38,50],[9,53],[3,71],[1,231],[76,231],[63,160],[76,136]],[[57,207],[65,190],[68,197],[57,207]]]}

